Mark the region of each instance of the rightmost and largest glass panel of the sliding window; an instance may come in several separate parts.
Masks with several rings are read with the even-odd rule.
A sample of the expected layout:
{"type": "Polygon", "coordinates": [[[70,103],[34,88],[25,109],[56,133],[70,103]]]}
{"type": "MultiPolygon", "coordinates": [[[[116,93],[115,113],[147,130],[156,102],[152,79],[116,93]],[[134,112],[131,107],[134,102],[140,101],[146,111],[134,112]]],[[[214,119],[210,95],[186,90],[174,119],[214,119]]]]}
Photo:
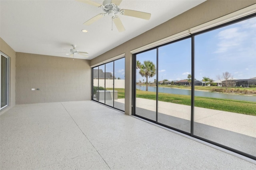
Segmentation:
{"type": "Polygon", "coordinates": [[[204,91],[194,101],[196,136],[254,156],[255,25],[254,17],[195,36],[195,78],[204,91]]]}

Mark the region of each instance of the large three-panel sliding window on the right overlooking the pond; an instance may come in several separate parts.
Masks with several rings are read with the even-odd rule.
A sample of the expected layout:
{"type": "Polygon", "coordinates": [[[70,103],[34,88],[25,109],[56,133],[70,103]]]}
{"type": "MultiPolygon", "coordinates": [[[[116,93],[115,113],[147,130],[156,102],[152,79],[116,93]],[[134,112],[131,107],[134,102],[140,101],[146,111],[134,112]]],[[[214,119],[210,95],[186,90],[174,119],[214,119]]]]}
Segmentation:
{"type": "Polygon", "coordinates": [[[135,53],[133,71],[133,115],[256,160],[255,15],[135,53]]]}

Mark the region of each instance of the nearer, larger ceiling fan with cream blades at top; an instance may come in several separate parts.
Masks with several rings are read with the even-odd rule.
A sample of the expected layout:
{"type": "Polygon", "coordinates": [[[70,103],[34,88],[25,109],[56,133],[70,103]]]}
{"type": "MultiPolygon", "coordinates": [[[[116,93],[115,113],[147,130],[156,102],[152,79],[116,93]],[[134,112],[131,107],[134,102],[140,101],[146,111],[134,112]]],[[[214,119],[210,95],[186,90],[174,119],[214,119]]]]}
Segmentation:
{"type": "Polygon", "coordinates": [[[104,13],[98,14],[98,15],[94,16],[93,18],[91,18],[90,20],[86,21],[84,23],[84,25],[86,25],[86,26],[98,21],[100,18],[102,18],[108,14],[109,16],[112,16],[112,20],[113,20],[114,24],[116,25],[117,30],[119,32],[123,32],[123,31],[125,31],[124,26],[123,26],[120,18],[118,16],[116,16],[116,14],[120,13],[121,15],[132,16],[132,17],[141,18],[144,20],[149,20],[150,16],[151,16],[151,14],[146,13],[146,12],[140,12],[140,11],[134,11],[134,10],[124,10],[124,9],[120,10],[119,5],[122,2],[122,0],[104,0],[103,4],[99,4],[99,3],[91,1],[91,0],[76,0],[76,1],[90,4],[93,6],[97,6],[98,8],[102,8],[102,10],[104,11],[104,13]]]}

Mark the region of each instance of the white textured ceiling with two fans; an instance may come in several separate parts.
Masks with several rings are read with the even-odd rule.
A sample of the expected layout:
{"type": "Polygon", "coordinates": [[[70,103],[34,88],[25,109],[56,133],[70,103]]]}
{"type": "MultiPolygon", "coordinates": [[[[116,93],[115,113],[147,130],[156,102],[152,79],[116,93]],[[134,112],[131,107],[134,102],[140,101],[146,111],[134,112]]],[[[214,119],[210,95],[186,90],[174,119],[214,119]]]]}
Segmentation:
{"type": "MultiPolygon", "coordinates": [[[[94,0],[102,4],[103,0],[94,0]]],[[[90,26],[83,23],[101,8],[75,0],[0,0],[0,37],[16,52],[69,57],[72,44],[88,58],[98,55],[197,6],[205,0],[123,0],[121,9],[151,13],[150,20],[120,16],[124,32],[118,32],[110,16],[90,26]],[[88,30],[83,33],[81,30],[88,30]]]]}

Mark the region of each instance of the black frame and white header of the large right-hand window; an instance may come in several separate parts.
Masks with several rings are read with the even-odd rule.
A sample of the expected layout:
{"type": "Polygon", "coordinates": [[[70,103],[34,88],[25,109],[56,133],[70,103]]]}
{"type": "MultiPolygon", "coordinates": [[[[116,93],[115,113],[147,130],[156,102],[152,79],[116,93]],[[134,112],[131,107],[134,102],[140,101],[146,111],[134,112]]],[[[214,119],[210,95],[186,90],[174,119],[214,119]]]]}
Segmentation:
{"type": "MultiPolygon", "coordinates": [[[[256,6],[256,5],[252,5],[252,6],[256,6]]],[[[250,8],[252,8],[252,6],[250,6],[250,8]]],[[[183,134],[192,136],[194,138],[203,140],[203,141],[208,142],[210,144],[214,144],[216,146],[220,146],[221,148],[230,150],[230,151],[235,152],[237,154],[240,154],[242,156],[246,156],[246,157],[251,158],[253,160],[256,160],[256,156],[254,156],[254,155],[251,155],[251,154],[248,154],[246,152],[242,152],[240,150],[236,150],[234,148],[231,148],[229,146],[226,146],[226,145],[214,142],[212,140],[208,140],[206,138],[194,135],[194,101],[195,101],[194,100],[195,42],[194,41],[195,41],[195,36],[200,35],[200,34],[204,34],[206,32],[210,32],[210,31],[213,31],[213,30],[225,27],[225,26],[229,26],[231,24],[235,24],[235,23],[238,23],[238,22],[241,22],[241,21],[244,21],[244,20],[248,20],[250,18],[256,18],[256,8],[254,10],[249,10],[247,15],[244,14],[244,13],[240,14],[240,15],[237,14],[239,12],[234,12],[234,13],[236,13],[236,15],[231,17],[233,19],[228,18],[228,19],[225,19],[224,21],[218,21],[218,22],[216,22],[217,24],[212,24],[213,21],[211,21],[210,24],[208,24],[206,26],[202,26],[201,28],[200,28],[200,26],[198,26],[199,28],[195,27],[195,28],[189,29],[188,30],[189,35],[185,34],[185,31],[184,31],[184,32],[178,33],[176,35],[170,36],[169,37],[169,39],[170,39],[169,41],[167,39],[164,40],[164,41],[161,40],[161,42],[164,42],[164,43],[155,42],[155,43],[152,43],[151,45],[146,45],[145,47],[140,47],[138,49],[132,50],[131,51],[131,53],[132,53],[132,115],[136,116],[136,117],[139,117],[141,119],[145,119],[146,121],[150,121],[152,123],[158,124],[160,126],[167,127],[167,128],[172,129],[172,130],[176,130],[178,132],[181,132],[183,134]],[[210,26],[212,26],[212,27],[210,27],[210,26]],[[190,30],[192,30],[192,31],[190,31],[190,30]],[[144,53],[144,52],[152,50],[152,49],[157,49],[157,51],[158,51],[159,47],[162,47],[164,45],[168,45],[168,44],[171,44],[171,43],[175,43],[175,42],[178,42],[178,41],[181,41],[181,40],[184,40],[184,39],[189,39],[189,38],[191,39],[191,75],[192,75],[192,77],[191,77],[192,82],[191,82],[190,133],[185,132],[185,131],[180,130],[180,129],[177,129],[177,128],[174,128],[174,127],[170,127],[168,125],[164,125],[162,123],[159,123],[157,121],[158,118],[156,118],[156,121],[153,121],[151,119],[147,119],[147,118],[142,117],[140,115],[136,115],[136,55],[139,54],[139,53],[144,53]]],[[[234,15],[234,14],[230,14],[230,15],[234,15]]],[[[224,18],[227,18],[227,17],[224,16],[224,18]]],[[[220,20],[220,19],[218,18],[218,20],[220,20]]],[[[202,24],[202,25],[204,25],[204,24],[202,24]]],[[[157,53],[157,55],[158,55],[158,53],[157,53]]],[[[158,73],[158,70],[156,72],[158,73]]],[[[156,94],[156,95],[158,96],[158,94],[156,94]]],[[[158,98],[157,98],[156,102],[158,103],[158,98]]],[[[157,111],[157,109],[156,109],[156,111],[157,111]]],[[[157,114],[158,113],[156,113],[156,115],[157,114]]]]}

